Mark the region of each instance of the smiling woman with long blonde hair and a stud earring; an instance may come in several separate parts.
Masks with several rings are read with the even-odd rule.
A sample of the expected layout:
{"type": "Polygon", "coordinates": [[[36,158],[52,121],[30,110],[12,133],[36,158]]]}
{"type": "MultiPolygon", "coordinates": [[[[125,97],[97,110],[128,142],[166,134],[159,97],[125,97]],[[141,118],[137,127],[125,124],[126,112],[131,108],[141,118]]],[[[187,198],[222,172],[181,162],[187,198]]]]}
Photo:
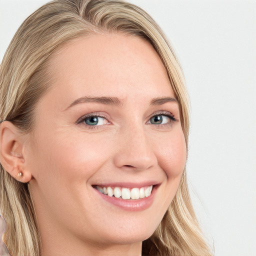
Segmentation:
{"type": "Polygon", "coordinates": [[[18,255],[211,255],[187,184],[188,97],[152,18],[55,0],[0,69],[1,197],[18,255]]]}

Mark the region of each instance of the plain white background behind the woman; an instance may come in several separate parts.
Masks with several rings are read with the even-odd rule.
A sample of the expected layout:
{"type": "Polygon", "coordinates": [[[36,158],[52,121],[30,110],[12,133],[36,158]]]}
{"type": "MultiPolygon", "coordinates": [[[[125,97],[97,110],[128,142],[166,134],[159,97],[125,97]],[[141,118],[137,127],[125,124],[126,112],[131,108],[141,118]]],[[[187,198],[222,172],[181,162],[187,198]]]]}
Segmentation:
{"type": "MultiPolygon", "coordinates": [[[[187,171],[216,256],[256,251],[256,1],[130,0],[163,28],[191,99],[187,171]]],[[[45,0],[0,0],[0,60],[45,0]]]]}

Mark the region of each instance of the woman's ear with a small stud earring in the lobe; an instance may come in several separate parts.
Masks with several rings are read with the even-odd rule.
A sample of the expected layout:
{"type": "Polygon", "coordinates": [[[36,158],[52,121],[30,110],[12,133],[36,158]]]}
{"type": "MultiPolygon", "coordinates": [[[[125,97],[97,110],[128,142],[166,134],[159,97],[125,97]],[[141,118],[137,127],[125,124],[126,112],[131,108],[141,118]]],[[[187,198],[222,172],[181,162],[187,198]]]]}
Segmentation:
{"type": "Polygon", "coordinates": [[[3,168],[20,182],[29,182],[31,173],[26,168],[26,136],[9,121],[0,124],[0,162],[3,168]]]}

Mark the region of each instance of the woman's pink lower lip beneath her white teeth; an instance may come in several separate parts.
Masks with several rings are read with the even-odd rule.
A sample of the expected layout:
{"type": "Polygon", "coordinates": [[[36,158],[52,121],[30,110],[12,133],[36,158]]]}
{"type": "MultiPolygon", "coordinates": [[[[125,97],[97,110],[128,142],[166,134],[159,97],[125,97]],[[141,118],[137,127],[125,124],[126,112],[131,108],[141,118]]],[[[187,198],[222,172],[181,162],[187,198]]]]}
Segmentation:
{"type": "Polygon", "coordinates": [[[107,194],[100,193],[96,188],[93,188],[104,200],[107,202],[118,206],[124,210],[129,211],[139,211],[139,210],[145,210],[149,208],[154,199],[154,194],[156,191],[156,186],[153,186],[153,189],[151,191],[151,194],[148,197],[144,197],[141,199],[122,199],[121,197],[117,198],[114,196],[108,196],[107,194]]]}

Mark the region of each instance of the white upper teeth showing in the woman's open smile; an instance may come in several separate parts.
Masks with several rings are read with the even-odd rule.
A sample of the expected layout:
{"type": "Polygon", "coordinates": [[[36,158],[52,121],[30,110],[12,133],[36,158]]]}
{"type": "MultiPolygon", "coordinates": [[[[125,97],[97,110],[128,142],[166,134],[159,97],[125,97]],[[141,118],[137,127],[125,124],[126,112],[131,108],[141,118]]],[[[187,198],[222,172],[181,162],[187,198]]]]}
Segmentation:
{"type": "Polygon", "coordinates": [[[111,186],[93,186],[100,193],[108,195],[109,197],[122,198],[125,200],[129,199],[141,199],[144,197],[148,197],[151,195],[151,191],[153,185],[144,186],[144,187],[134,187],[134,188],[126,188],[126,187],[111,187],[111,186]]]}

